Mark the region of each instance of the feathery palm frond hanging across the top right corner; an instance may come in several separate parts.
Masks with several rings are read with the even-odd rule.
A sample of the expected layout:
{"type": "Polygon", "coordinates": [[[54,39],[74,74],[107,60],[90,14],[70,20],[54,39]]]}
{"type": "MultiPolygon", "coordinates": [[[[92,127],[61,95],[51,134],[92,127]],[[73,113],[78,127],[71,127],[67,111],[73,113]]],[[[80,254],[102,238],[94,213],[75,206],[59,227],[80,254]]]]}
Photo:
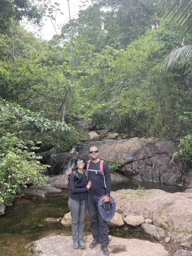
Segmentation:
{"type": "Polygon", "coordinates": [[[140,0],[140,2],[155,5],[165,17],[171,17],[173,23],[182,25],[186,31],[192,28],[192,0],[140,0]]]}

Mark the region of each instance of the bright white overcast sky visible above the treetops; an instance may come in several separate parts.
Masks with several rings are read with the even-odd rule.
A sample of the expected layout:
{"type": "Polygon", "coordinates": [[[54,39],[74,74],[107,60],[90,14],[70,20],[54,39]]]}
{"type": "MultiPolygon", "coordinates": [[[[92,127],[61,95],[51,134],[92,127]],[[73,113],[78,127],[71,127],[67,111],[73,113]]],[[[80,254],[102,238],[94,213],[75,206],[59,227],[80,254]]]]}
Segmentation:
{"type": "MultiPolygon", "coordinates": [[[[61,9],[61,12],[64,13],[64,15],[61,14],[57,14],[57,18],[56,18],[56,25],[61,25],[67,21],[69,21],[69,19],[67,19],[69,17],[69,12],[68,12],[68,8],[67,8],[67,0],[55,0],[52,1],[52,3],[57,2],[60,4],[60,6],[58,7],[59,9],[61,9]]],[[[73,18],[77,18],[77,14],[79,12],[79,5],[81,5],[79,0],[69,0],[69,4],[70,4],[70,16],[73,18]],[[74,16],[75,15],[75,16],[74,16]]],[[[84,8],[85,9],[85,8],[84,8]]],[[[50,21],[49,18],[47,18],[46,21],[44,21],[44,28],[41,31],[41,35],[42,38],[45,40],[50,40],[52,38],[53,35],[55,35],[55,30],[54,27],[50,21]]],[[[60,30],[57,30],[58,33],[60,33],[60,30]]]]}

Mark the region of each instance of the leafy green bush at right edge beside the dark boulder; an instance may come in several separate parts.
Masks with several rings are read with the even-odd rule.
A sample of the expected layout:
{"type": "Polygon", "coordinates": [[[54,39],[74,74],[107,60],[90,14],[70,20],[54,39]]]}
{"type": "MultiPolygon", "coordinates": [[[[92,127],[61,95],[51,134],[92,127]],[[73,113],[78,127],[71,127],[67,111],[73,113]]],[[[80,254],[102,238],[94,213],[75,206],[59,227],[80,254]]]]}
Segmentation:
{"type": "Polygon", "coordinates": [[[173,153],[173,158],[179,155],[182,160],[190,160],[192,162],[192,135],[187,135],[180,139],[177,149],[178,151],[173,153]]]}

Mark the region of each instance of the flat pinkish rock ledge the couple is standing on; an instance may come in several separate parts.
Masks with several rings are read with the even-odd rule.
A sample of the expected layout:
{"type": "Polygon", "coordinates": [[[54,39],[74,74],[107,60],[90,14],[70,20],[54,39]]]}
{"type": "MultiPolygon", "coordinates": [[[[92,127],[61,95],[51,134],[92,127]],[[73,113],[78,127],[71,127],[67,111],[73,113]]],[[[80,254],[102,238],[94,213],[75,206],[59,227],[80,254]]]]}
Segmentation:
{"type": "MultiPolygon", "coordinates": [[[[116,256],[168,256],[169,253],[161,244],[139,240],[110,237],[108,245],[110,255],[116,256]]],[[[74,249],[72,236],[49,236],[33,242],[32,251],[34,256],[103,256],[101,246],[89,248],[92,236],[85,237],[86,249],[74,249]]]]}

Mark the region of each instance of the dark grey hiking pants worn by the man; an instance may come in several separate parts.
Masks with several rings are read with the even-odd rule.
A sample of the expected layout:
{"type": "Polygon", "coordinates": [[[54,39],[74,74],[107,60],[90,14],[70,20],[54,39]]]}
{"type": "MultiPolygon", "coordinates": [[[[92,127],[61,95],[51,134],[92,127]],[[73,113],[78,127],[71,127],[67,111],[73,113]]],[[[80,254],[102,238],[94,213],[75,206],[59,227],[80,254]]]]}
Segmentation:
{"type": "Polygon", "coordinates": [[[91,219],[91,232],[93,238],[98,240],[101,246],[107,246],[109,244],[109,236],[107,230],[107,221],[101,217],[98,208],[98,202],[101,196],[93,196],[87,194],[88,212],[91,219]]]}

